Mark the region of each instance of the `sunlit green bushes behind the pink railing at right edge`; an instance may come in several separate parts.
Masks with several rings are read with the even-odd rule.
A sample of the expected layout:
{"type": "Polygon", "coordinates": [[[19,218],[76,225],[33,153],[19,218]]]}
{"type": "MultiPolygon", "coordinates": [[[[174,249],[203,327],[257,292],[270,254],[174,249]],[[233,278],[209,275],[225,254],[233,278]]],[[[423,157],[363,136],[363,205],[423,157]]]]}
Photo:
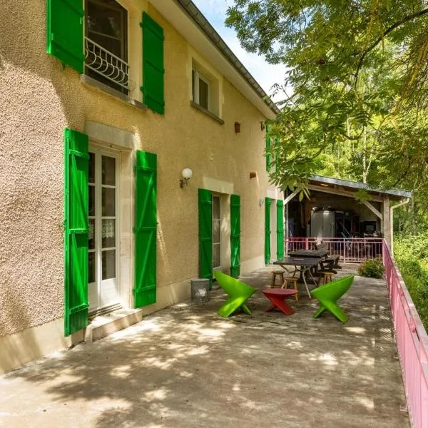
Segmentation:
{"type": "Polygon", "coordinates": [[[394,257],[419,317],[428,330],[428,233],[397,239],[394,257]]]}

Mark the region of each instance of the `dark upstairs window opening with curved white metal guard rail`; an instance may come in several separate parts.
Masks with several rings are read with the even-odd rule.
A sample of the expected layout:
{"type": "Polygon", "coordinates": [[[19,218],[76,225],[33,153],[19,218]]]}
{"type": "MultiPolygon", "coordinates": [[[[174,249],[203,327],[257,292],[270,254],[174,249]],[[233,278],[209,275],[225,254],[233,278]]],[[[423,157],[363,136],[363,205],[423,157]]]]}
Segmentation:
{"type": "Polygon", "coordinates": [[[86,0],[85,73],[128,93],[128,12],[115,0],[86,0]]]}

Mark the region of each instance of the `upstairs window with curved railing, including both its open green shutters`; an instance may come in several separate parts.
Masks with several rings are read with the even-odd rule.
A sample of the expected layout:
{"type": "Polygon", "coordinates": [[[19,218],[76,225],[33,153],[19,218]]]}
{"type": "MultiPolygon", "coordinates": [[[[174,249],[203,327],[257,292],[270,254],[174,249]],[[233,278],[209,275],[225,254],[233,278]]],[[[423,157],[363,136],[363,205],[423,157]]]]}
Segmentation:
{"type": "MultiPolygon", "coordinates": [[[[146,12],[138,26],[140,14],[131,6],[136,2],[120,1],[130,5],[128,10],[114,0],[85,0],[85,9],[80,0],[46,0],[46,51],[63,66],[86,73],[134,100],[139,89],[143,103],[164,114],[163,28],[146,12]],[[141,49],[135,49],[139,40],[143,45],[142,55],[141,49]],[[129,54],[131,59],[128,51],[133,52],[129,54]],[[134,64],[132,75],[128,61],[134,64]]],[[[110,88],[103,89],[111,93],[110,88]]]]}

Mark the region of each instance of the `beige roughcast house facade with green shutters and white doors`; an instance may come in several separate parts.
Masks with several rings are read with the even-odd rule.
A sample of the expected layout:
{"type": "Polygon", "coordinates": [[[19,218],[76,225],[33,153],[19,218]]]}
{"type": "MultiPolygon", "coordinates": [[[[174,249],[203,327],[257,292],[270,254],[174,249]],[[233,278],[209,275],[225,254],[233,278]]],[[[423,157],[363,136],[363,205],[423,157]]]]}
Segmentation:
{"type": "Polygon", "coordinates": [[[277,108],[191,2],[3,6],[0,371],[282,254],[277,108]]]}

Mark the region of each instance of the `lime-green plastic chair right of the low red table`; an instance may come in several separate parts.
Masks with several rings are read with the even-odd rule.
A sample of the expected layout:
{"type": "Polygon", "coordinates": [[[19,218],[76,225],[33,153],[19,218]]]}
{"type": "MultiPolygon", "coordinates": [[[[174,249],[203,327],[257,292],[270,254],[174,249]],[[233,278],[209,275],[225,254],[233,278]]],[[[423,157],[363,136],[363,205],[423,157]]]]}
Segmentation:
{"type": "Polygon", "coordinates": [[[337,305],[337,300],[350,289],[352,282],[354,282],[354,275],[349,275],[339,280],[327,282],[327,284],[312,290],[310,293],[320,302],[320,309],[315,312],[314,318],[320,317],[322,312],[328,310],[335,315],[337,320],[347,322],[349,317],[341,307],[337,305]]]}

